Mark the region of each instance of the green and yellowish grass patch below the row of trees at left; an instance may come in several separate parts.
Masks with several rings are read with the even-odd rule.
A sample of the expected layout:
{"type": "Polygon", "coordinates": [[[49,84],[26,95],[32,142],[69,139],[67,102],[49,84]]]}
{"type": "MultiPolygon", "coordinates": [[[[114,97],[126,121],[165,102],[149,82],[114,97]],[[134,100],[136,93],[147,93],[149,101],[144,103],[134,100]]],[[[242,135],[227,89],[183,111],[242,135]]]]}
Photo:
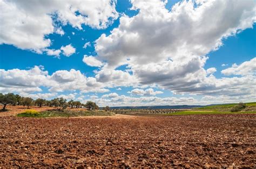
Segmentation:
{"type": "Polygon", "coordinates": [[[113,116],[114,113],[102,110],[49,110],[41,111],[35,114],[22,112],[18,117],[83,117],[83,116],[113,116]]]}

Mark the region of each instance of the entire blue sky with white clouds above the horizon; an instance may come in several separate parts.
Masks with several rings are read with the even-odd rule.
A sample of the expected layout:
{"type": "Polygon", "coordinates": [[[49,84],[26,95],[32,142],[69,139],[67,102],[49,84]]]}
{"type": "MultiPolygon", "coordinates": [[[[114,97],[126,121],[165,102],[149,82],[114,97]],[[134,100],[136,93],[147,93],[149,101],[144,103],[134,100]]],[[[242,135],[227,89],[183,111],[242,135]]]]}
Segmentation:
{"type": "Polygon", "coordinates": [[[0,93],[100,106],[256,101],[254,0],[0,0],[0,93]]]}

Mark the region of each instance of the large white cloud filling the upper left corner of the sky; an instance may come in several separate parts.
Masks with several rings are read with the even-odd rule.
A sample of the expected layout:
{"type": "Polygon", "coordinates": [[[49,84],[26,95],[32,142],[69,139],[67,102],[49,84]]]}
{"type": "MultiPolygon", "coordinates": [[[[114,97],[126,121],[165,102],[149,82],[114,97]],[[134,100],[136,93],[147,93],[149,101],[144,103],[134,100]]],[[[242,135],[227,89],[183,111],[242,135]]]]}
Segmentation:
{"type": "Polygon", "coordinates": [[[0,1],[0,44],[15,45],[23,50],[42,53],[51,45],[45,36],[64,34],[55,21],[82,29],[89,25],[104,29],[117,19],[116,1],[0,1]],[[55,18],[55,19],[53,19],[55,18]]]}

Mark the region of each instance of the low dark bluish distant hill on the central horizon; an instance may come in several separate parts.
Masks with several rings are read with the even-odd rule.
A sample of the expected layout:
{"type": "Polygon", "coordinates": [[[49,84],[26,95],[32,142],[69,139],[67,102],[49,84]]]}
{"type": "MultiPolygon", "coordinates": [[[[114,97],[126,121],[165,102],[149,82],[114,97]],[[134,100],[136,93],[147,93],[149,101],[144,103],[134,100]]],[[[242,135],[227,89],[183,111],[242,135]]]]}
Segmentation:
{"type": "Polygon", "coordinates": [[[110,107],[110,109],[192,109],[200,108],[204,105],[150,105],[150,106],[120,106],[110,107]]]}

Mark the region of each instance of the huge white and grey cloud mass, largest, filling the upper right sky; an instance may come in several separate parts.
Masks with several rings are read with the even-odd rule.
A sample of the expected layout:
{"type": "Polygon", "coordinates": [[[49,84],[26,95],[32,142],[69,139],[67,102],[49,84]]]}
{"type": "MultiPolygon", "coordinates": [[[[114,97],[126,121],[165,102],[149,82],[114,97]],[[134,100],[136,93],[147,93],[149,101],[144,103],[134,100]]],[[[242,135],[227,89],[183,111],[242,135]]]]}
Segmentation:
{"type": "Polygon", "coordinates": [[[217,79],[215,68],[204,69],[206,55],[218,50],[223,39],[252,28],[256,19],[252,0],[182,1],[171,10],[165,8],[166,1],[131,3],[138,15],[123,15],[117,28],[96,40],[98,57],[106,61],[97,72],[98,81],[112,86],[157,85],[174,94],[255,92],[255,88],[240,91],[255,85],[253,76],[217,79]],[[128,71],[116,70],[125,64],[128,71]],[[117,71],[119,77],[113,78],[117,71]]]}

